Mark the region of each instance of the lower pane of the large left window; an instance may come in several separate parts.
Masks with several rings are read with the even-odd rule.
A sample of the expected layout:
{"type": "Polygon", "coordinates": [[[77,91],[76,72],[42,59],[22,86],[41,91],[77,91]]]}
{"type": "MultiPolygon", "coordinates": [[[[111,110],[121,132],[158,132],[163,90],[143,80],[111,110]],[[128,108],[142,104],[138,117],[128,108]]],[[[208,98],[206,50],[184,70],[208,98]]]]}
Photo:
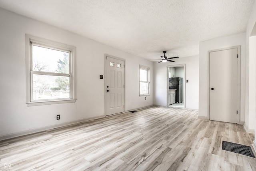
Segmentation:
{"type": "Polygon", "coordinates": [[[33,75],[33,100],[70,98],[69,77],[33,75]]]}

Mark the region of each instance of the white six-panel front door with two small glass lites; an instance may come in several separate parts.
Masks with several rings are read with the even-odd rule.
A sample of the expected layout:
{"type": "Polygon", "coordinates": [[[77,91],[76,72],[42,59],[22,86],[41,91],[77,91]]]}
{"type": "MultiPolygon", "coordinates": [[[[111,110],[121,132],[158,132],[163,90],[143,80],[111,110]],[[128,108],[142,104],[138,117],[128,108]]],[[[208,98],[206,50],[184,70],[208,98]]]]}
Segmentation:
{"type": "Polygon", "coordinates": [[[124,112],[124,61],[106,56],[106,115],[124,112]]]}

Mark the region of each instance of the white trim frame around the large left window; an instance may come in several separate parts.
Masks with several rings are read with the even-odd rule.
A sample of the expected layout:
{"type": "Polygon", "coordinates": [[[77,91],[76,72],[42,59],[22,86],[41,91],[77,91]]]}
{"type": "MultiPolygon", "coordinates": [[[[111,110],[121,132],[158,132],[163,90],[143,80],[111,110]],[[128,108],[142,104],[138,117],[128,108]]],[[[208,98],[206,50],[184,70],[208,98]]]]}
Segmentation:
{"type": "Polygon", "coordinates": [[[35,105],[50,105],[50,104],[59,104],[59,103],[74,103],[76,102],[76,47],[54,42],[51,40],[46,40],[44,38],[38,38],[36,36],[31,36],[26,34],[26,104],[28,106],[35,105]],[[70,98],[69,99],[50,99],[50,100],[41,100],[33,101],[32,100],[32,74],[37,73],[32,71],[32,43],[39,44],[40,46],[46,46],[51,48],[57,48],[64,51],[71,51],[70,53],[70,73],[67,74],[70,76],[70,98]]]}

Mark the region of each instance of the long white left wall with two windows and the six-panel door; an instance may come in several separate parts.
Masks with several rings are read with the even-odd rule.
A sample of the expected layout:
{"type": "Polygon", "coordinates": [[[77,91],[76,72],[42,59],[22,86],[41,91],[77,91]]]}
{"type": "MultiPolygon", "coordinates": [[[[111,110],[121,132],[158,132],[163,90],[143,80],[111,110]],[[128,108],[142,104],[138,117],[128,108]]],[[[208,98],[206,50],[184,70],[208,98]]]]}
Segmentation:
{"type": "MultiPolygon", "coordinates": [[[[104,54],[126,60],[126,111],[153,105],[139,97],[139,65],[153,63],[121,50],[0,8],[0,139],[2,135],[105,116],[104,54]],[[76,46],[76,103],[26,105],[25,34],[76,46]],[[60,120],[56,120],[60,114],[60,120]]],[[[154,82],[151,76],[151,83],[154,82]]],[[[2,136],[3,137],[3,136],[2,136]]]]}

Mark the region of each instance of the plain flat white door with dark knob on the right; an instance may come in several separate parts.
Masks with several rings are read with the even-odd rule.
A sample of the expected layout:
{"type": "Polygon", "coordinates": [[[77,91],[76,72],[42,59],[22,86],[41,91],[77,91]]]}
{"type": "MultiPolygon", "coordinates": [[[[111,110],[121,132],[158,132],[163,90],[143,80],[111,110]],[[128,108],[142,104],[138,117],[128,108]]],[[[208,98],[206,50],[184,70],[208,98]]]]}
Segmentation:
{"type": "Polygon", "coordinates": [[[210,52],[210,120],[237,123],[238,48],[210,52]]]}

